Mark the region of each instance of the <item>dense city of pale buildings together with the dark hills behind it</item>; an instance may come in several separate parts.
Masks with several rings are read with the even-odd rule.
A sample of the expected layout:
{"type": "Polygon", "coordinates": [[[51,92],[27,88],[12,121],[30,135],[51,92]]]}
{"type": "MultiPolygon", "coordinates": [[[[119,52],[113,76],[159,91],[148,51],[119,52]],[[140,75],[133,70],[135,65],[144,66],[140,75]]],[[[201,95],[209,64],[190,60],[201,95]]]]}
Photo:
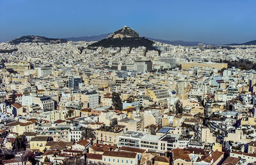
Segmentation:
{"type": "Polygon", "coordinates": [[[124,26],[0,52],[2,164],[256,162],[255,45],[174,46],[124,26]]]}

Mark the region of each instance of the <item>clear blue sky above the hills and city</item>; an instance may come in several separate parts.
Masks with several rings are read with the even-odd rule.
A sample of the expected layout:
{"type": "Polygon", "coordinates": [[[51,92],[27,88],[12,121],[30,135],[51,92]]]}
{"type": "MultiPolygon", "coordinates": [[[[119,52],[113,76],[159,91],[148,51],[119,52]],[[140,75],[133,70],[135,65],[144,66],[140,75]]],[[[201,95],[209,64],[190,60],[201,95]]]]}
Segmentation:
{"type": "Polygon", "coordinates": [[[256,39],[255,6],[255,0],[0,0],[0,41],[93,36],[127,25],[170,41],[243,43],[256,39]]]}

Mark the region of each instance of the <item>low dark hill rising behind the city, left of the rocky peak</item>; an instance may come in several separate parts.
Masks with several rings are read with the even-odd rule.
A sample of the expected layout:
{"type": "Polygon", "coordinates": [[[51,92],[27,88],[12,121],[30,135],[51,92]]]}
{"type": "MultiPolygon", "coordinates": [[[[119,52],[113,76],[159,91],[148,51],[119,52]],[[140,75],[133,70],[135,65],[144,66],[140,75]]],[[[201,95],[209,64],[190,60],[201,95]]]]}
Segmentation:
{"type": "Polygon", "coordinates": [[[43,36],[22,36],[9,41],[13,45],[19,43],[67,43],[67,39],[46,38],[43,36]]]}

